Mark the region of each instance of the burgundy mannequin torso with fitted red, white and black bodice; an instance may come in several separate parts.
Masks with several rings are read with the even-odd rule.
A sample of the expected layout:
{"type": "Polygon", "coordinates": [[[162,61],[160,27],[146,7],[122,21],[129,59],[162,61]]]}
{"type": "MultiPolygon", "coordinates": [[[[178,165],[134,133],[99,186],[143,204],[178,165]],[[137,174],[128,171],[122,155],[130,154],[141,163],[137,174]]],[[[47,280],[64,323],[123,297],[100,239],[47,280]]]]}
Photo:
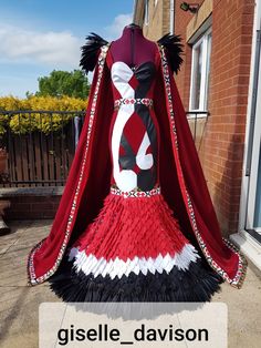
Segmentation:
{"type": "Polygon", "coordinates": [[[137,25],[127,25],[113,41],[108,68],[114,101],[109,147],[112,185],[123,192],[150,191],[158,186],[158,127],[152,109],[157,45],[137,25]]]}

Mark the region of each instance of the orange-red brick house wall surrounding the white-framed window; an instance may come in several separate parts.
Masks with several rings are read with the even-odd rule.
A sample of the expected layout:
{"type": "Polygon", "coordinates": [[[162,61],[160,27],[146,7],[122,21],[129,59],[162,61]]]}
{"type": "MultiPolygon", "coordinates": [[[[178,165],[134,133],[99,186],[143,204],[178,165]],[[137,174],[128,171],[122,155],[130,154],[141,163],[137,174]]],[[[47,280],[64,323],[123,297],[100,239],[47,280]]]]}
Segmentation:
{"type": "MultiPolygon", "coordinates": [[[[176,6],[175,32],[186,38],[192,14],[176,6]]],[[[199,156],[225,235],[237,232],[246,133],[253,0],[213,0],[210,116],[203,127],[199,156]]],[[[176,76],[188,109],[191,49],[176,76]]]]}

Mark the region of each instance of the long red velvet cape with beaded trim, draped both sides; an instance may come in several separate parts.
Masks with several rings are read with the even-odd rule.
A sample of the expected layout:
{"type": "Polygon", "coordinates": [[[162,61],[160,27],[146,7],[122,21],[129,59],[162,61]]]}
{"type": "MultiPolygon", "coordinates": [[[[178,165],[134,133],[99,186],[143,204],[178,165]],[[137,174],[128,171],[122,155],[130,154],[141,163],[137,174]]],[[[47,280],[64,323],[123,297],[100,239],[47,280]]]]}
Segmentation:
{"type": "MultiPolygon", "coordinates": [[[[29,255],[29,284],[55,273],[66,248],[97,216],[109,193],[107,144],[113,95],[106,65],[109,43],[103,45],[94,71],[84,125],[51,232],[29,255]]],[[[210,267],[234,287],[241,287],[247,262],[222,238],[186,113],[173,78],[167,52],[158,45],[154,108],[160,127],[159,181],[161,193],[179,219],[181,231],[210,267]]],[[[152,236],[153,237],[153,236],[152,236]]]]}

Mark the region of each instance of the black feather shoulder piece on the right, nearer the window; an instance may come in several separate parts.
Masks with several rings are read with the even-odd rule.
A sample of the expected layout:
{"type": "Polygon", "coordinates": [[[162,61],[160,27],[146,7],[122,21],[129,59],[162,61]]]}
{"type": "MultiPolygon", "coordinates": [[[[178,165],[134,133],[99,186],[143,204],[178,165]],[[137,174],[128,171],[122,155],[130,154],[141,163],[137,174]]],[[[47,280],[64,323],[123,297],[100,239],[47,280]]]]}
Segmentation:
{"type": "Polygon", "coordinates": [[[178,73],[184,61],[181,58],[184,44],[181,43],[180,35],[167,33],[157,43],[167,49],[170,68],[174,72],[178,73]]]}

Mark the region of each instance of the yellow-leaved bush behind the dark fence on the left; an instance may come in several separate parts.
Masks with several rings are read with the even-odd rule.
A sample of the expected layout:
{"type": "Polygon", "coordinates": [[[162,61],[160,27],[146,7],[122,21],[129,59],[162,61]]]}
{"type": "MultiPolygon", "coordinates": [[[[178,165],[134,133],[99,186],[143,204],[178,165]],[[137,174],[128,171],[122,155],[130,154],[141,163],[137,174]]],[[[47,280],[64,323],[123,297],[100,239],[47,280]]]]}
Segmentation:
{"type": "Polygon", "coordinates": [[[0,112],[11,111],[12,115],[0,114],[0,134],[4,134],[10,127],[15,134],[27,134],[30,131],[40,131],[49,134],[59,131],[74,116],[74,114],[38,113],[36,111],[84,111],[87,102],[76,98],[62,96],[29,96],[20,100],[14,96],[0,98],[0,112]],[[17,113],[15,111],[24,111],[17,113]],[[35,111],[28,114],[27,111],[35,111]]]}

